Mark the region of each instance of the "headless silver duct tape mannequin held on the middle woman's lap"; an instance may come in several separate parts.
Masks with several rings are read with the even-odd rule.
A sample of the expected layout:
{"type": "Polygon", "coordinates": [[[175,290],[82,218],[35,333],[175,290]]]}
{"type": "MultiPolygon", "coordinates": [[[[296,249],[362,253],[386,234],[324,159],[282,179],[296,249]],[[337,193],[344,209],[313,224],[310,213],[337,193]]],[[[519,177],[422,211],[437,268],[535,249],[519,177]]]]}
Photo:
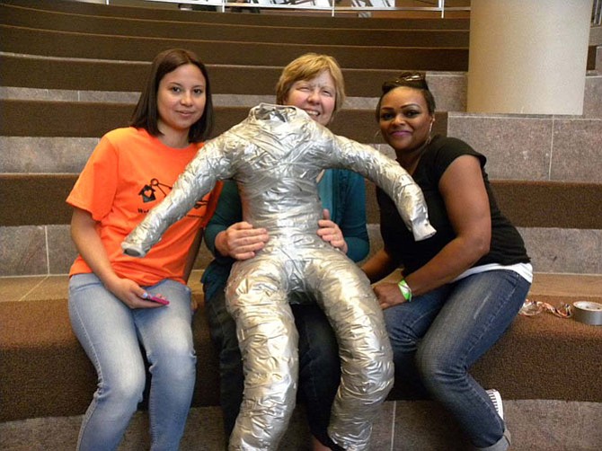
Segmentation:
{"type": "Polygon", "coordinates": [[[224,179],[238,184],[244,221],[267,229],[268,243],[254,258],[235,263],[226,286],[245,374],[230,449],[277,449],[287,429],[298,372],[291,292],[313,294],[339,340],[341,385],[329,427],[335,443],[367,449],[372,422],[393,385],[392,351],[367,277],[316,234],[322,218],[316,178],[327,168],[374,181],[394,199],[415,239],[435,233],[420,188],[394,160],[332,134],[296,107],[262,103],[209,140],[172,192],[121,244],[129,255],[145,255],[224,179]]]}

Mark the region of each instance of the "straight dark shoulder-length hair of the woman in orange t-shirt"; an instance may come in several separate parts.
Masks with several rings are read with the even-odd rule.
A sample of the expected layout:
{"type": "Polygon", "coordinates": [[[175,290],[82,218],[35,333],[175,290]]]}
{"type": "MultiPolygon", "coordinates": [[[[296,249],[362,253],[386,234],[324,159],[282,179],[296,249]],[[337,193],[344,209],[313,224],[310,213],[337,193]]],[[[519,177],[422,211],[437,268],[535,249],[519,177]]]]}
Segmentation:
{"type": "Polygon", "coordinates": [[[130,119],[130,126],[144,128],[154,137],[161,135],[161,131],[159,131],[158,127],[159,113],[157,111],[157,91],[159,89],[159,83],[165,75],[173,72],[178,67],[187,64],[199,67],[200,72],[205,77],[206,83],[205,111],[203,111],[201,118],[190,127],[188,141],[190,143],[198,143],[209,137],[209,134],[213,129],[214,116],[209,75],[207,68],[201,62],[199,57],[190,50],[184,49],[164,50],[155,57],[153,64],[151,65],[150,74],[146,79],[146,86],[142,93],[140,93],[140,99],[138,100],[136,109],[130,119]]]}

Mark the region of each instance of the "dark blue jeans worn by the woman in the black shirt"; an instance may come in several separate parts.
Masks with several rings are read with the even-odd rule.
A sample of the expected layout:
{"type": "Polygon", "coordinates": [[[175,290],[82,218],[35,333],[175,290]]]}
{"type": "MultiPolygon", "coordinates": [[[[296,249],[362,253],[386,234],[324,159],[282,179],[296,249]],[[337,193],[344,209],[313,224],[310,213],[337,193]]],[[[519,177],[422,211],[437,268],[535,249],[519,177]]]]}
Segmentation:
{"type": "Polygon", "coordinates": [[[529,287],[514,271],[491,270],[385,310],[396,384],[441,402],[474,447],[508,447],[504,421],[468,368],[508,329],[529,287]]]}

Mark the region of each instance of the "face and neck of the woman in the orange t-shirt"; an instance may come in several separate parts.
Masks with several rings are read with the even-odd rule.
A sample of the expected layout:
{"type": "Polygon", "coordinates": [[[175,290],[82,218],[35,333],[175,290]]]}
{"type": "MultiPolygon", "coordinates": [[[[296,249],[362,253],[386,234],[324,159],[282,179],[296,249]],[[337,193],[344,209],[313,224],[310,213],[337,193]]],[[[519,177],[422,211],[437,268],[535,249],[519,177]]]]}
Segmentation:
{"type": "Polygon", "coordinates": [[[164,75],[157,89],[157,125],[166,146],[188,146],[190,127],[205,111],[206,80],[193,64],[178,66],[164,75]]]}

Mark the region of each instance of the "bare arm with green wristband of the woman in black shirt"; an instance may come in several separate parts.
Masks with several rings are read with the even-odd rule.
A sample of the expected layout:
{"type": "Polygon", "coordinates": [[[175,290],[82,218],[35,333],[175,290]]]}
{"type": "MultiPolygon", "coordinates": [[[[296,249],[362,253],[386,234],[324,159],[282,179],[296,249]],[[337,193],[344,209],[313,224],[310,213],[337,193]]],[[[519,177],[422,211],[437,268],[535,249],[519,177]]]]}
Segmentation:
{"type": "MultiPolygon", "coordinates": [[[[406,278],[413,296],[456,279],[489,252],[491,244],[489,199],[477,158],[471,155],[456,158],[441,177],[439,191],[456,238],[406,278]]],[[[381,284],[375,287],[375,292],[384,307],[403,302],[396,284],[381,284]]]]}

